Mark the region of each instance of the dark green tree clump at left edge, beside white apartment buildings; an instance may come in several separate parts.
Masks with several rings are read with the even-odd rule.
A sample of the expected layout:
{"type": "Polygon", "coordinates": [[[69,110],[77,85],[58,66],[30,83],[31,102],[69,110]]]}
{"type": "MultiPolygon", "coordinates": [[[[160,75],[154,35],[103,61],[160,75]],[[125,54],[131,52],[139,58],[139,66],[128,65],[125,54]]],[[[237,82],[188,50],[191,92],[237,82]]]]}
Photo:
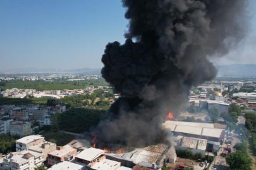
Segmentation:
{"type": "Polygon", "coordinates": [[[15,152],[15,141],[17,139],[17,137],[9,135],[0,135],[0,153],[6,154],[7,152],[15,152]]]}

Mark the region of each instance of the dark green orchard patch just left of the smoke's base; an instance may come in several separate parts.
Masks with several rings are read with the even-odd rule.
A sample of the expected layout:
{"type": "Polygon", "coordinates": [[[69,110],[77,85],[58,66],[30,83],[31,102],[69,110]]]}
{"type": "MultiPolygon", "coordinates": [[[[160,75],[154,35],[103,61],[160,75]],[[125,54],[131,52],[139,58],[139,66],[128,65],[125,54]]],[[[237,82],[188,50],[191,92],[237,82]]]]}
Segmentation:
{"type": "Polygon", "coordinates": [[[102,116],[106,116],[105,110],[74,108],[60,115],[59,128],[68,132],[85,132],[97,125],[102,116]]]}

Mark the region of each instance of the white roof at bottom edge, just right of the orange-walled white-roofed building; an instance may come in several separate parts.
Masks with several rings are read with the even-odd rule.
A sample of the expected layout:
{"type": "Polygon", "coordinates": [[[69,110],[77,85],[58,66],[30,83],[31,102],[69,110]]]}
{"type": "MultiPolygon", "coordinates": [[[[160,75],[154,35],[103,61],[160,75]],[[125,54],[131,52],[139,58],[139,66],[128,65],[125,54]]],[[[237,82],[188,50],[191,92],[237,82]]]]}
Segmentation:
{"type": "Polygon", "coordinates": [[[109,159],[102,159],[92,166],[95,170],[115,170],[116,167],[120,166],[121,162],[111,161],[109,159]]]}

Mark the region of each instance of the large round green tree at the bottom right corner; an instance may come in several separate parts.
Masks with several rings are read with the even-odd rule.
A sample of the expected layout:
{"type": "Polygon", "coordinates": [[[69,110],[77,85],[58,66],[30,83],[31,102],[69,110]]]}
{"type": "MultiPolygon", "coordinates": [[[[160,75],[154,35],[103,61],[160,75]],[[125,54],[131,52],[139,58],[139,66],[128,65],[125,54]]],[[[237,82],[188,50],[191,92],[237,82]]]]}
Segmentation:
{"type": "Polygon", "coordinates": [[[229,164],[230,170],[252,170],[252,159],[241,150],[229,154],[226,157],[226,162],[229,164]]]}

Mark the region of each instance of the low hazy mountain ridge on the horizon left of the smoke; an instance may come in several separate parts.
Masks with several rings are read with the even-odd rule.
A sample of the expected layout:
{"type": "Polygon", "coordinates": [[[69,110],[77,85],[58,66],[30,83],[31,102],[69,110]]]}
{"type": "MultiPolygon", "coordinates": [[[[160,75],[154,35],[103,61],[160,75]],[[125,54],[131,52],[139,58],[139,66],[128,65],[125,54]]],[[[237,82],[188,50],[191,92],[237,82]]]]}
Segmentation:
{"type": "Polygon", "coordinates": [[[83,74],[101,74],[101,69],[58,69],[58,68],[49,68],[42,69],[38,67],[28,67],[28,68],[17,68],[17,69],[0,69],[0,73],[83,73],[83,74]]]}

